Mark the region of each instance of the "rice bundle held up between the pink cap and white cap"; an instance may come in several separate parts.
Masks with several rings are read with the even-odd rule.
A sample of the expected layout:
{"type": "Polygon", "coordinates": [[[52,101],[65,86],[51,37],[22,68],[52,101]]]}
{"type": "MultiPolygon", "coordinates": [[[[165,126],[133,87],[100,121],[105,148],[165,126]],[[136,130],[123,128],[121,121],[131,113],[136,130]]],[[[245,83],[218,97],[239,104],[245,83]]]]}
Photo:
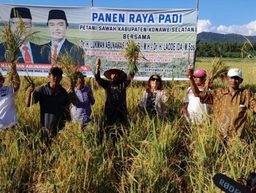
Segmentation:
{"type": "MultiPolygon", "coordinates": [[[[222,56],[221,57],[215,57],[211,61],[211,67],[208,69],[207,73],[207,81],[214,81],[217,78],[224,79],[227,77],[227,72],[229,70],[229,66],[227,66],[226,62],[222,61],[222,56]]],[[[204,90],[207,90],[207,87],[204,87],[204,90]]]]}

